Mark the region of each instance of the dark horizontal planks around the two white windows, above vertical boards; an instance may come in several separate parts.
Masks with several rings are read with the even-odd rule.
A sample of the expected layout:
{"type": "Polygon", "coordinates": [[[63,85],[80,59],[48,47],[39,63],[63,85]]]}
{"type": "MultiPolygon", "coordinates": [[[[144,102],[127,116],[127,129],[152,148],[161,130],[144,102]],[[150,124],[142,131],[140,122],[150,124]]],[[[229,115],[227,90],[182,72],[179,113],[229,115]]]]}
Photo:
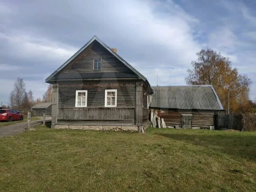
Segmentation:
{"type": "Polygon", "coordinates": [[[59,85],[59,107],[74,107],[76,90],[87,90],[87,107],[104,107],[105,90],[117,90],[118,107],[135,107],[136,82],[135,81],[88,81],[67,82],[59,85]]]}

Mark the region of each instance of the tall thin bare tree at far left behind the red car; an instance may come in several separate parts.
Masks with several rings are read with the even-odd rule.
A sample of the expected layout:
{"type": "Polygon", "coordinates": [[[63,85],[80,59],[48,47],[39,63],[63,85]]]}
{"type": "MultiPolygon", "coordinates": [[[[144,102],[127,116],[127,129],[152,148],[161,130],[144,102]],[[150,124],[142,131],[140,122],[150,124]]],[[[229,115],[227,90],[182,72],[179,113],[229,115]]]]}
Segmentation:
{"type": "Polygon", "coordinates": [[[17,78],[14,89],[10,93],[10,105],[12,108],[20,109],[26,98],[26,84],[22,78],[17,78]]]}

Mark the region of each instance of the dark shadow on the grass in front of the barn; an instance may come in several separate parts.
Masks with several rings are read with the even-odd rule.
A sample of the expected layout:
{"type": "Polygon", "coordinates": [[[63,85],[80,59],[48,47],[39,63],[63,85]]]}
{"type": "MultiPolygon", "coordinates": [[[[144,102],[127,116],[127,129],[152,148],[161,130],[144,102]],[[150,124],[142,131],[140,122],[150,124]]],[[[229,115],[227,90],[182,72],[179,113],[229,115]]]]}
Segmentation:
{"type": "Polygon", "coordinates": [[[256,160],[256,136],[253,135],[190,135],[185,133],[161,133],[159,135],[173,140],[203,146],[217,153],[256,160]]]}

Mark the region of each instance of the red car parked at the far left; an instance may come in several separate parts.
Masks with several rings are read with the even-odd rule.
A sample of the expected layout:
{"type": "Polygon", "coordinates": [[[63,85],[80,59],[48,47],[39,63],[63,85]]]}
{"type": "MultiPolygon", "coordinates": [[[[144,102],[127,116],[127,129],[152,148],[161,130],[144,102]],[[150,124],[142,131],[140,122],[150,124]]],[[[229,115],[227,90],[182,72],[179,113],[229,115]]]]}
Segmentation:
{"type": "Polygon", "coordinates": [[[0,109],[0,121],[23,120],[23,115],[18,110],[0,109]]]}

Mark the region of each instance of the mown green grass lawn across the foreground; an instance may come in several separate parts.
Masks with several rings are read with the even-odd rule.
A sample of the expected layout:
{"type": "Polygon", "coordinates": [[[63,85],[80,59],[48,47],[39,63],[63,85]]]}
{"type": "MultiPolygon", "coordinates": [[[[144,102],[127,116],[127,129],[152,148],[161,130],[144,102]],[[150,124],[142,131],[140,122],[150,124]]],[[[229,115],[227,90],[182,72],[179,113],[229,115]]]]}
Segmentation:
{"type": "Polygon", "coordinates": [[[0,191],[256,191],[256,132],[38,126],[0,146],[0,191]]]}

